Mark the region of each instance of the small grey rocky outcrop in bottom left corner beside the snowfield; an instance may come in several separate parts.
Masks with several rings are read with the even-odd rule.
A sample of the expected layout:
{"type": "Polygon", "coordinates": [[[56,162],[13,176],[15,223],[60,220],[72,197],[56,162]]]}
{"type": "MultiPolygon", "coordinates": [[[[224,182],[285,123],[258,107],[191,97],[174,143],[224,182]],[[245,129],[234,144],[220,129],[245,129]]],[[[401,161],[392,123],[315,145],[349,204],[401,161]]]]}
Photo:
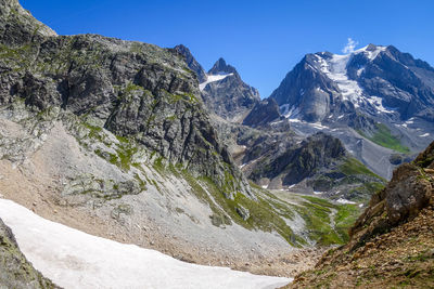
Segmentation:
{"type": "Polygon", "coordinates": [[[36,271],[20,251],[12,231],[0,219],[0,287],[59,288],[36,271]]]}

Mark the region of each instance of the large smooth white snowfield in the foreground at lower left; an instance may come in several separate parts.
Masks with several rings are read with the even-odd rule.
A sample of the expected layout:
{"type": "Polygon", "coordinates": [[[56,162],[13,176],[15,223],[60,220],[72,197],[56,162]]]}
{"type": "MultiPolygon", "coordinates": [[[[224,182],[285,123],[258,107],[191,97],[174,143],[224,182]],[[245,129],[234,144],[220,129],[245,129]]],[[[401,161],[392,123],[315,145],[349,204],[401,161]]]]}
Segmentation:
{"type": "Polygon", "coordinates": [[[181,262],[158,251],[95,237],[0,199],[0,218],[46,277],[67,288],[278,288],[289,278],[181,262]]]}

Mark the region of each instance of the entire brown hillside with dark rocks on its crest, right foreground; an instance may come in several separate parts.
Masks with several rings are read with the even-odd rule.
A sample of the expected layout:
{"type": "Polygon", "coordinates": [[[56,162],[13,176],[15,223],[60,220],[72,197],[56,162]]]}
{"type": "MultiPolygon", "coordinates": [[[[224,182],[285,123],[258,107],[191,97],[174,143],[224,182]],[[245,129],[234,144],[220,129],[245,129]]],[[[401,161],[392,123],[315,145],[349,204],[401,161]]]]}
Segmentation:
{"type": "Polygon", "coordinates": [[[291,288],[434,286],[434,143],[398,167],[371,198],[346,246],[327,252],[291,288]]]}

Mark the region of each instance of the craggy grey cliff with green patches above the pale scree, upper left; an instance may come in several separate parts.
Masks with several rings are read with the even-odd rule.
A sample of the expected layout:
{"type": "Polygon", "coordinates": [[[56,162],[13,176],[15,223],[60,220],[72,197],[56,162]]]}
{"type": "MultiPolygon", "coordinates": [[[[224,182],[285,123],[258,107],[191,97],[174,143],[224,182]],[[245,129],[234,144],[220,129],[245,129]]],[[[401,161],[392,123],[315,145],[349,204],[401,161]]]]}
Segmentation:
{"type": "Polygon", "coordinates": [[[0,105],[21,98],[37,111],[61,107],[219,186],[234,175],[230,187],[250,192],[178,52],[97,35],[56,36],[17,1],[0,8],[0,105]]]}

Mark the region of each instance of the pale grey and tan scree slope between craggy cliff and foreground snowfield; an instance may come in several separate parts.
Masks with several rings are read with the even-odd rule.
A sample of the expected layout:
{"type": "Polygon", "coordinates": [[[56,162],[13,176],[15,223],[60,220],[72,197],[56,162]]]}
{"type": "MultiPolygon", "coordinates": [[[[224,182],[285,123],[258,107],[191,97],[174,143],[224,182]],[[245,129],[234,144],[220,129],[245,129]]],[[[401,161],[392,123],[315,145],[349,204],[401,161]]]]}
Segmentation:
{"type": "MultiPolygon", "coordinates": [[[[3,135],[20,135],[18,124],[4,119],[1,121],[3,135]]],[[[0,197],[86,233],[156,249],[199,264],[293,277],[314,265],[322,252],[321,249],[295,250],[279,236],[250,232],[237,224],[225,229],[218,228],[208,222],[207,211],[197,207],[201,206],[197,200],[189,199],[188,195],[179,199],[175,194],[162,196],[151,186],[146,193],[112,201],[113,206],[118,201],[137,203],[138,207],[142,206],[140,210],[144,210],[144,214],[135,208],[136,213],[131,215],[111,218],[111,212],[104,208],[111,208],[112,205],[94,209],[89,206],[66,206],[68,200],[62,197],[60,191],[68,182],[66,176],[86,170],[107,173],[112,170],[110,167],[100,158],[87,155],[58,123],[37,152],[27,152],[23,162],[0,160],[0,197]],[[182,202],[190,206],[183,207],[190,218],[186,213],[176,213],[176,208],[180,208],[182,202]],[[195,219],[201,222],[193,222],[195,219]],[[170,223],[175,221],[181,223],[170,223]],[[210,237],[204,236],[203,232],[210,237]]]]}

